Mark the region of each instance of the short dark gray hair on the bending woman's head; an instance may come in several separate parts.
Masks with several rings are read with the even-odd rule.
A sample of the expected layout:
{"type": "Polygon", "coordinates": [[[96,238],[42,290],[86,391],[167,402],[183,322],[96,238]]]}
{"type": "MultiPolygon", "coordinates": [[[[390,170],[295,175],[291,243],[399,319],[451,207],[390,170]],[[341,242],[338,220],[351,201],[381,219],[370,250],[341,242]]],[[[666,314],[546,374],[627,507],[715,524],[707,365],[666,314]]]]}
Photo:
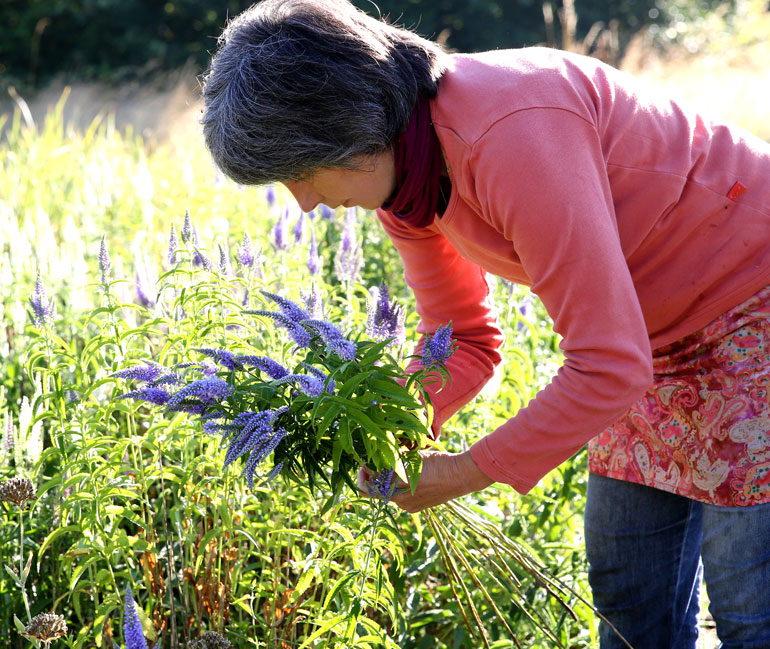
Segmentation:
{"type": "Polygon", "coordinates": [[[263,0],[227,25],[203,77],[206,146],[245,185],[354,168],[445,69],[439,45],[347,0],[263,0]]]}

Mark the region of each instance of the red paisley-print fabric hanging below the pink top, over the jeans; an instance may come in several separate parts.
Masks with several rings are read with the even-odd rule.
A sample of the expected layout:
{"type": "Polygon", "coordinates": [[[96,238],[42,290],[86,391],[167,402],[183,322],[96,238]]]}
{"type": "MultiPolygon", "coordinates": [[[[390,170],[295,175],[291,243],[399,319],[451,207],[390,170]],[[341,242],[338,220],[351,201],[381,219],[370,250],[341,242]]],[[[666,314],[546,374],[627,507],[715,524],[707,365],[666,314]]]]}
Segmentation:
{"type": "Polygon", "coordinates": [[[770,287],[653,351],[654,384],[589,470],[714,505],[770,502],[770,287]]]}

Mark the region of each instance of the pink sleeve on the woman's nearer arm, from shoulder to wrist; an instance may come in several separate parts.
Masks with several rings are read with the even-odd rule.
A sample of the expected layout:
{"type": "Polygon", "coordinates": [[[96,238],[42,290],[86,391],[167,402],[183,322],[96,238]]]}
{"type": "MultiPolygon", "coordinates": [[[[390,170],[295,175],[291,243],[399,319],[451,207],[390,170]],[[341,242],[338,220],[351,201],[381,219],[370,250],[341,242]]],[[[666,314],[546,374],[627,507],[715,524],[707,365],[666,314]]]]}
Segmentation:
{"type": "Polygon", "coordinates": [[[554,108],[510,114],[473,144],[466,173],[563,337],[551,383],[470,449],[487,475],[526,493],[649,388],[649,336],[591,121],[554,108]]]}

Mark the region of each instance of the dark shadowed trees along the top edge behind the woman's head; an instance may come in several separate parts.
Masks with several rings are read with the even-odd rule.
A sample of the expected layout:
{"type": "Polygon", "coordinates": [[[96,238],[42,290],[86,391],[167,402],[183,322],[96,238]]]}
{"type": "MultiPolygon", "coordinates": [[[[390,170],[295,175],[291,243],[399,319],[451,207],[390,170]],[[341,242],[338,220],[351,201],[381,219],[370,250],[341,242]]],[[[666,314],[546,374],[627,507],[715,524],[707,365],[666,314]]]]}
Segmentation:
{"type": "MultiPolygon", "coordinates": [[[[545,43],[542,0],[354,0],[452,49],[479,51],[545,43]]],[[[734,2],[735,0],[732,0],[734,2]]],[[[575,35],[616,21],[622,48],[635,31],[682,4],[717,0],[574,0],[575,35]]],[[[55,75],[118,83],[192,63],[203,69],[239,0],[0,0],[0,86],[40,87],[55,75]]],[[[558,11],[553,0],[556,38],[558,11]]],[[[719,4],[726,4],[720,2],[719,4]]],[[[731,3],[728,3],[731,4],[731,3]]]]}

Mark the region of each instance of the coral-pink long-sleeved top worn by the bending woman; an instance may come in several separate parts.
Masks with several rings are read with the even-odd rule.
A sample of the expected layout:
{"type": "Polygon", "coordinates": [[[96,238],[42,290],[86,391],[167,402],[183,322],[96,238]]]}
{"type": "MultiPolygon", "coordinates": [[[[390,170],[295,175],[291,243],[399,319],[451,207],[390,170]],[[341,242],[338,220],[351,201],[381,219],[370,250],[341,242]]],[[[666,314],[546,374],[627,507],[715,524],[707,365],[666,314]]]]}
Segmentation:
{"type": "Polygon", "coordinates": [[[451,387],[433,396],[437,433],[501,360],[486,272],[530,286],[553,318],[563,367],[471,447],[482,471],[526,493],[649,388],[652,348],[770,284],[770,145],[587,57],[451,59],[431,102],[446,212],[425,229],[378,216],[418,331],[451,320],[459,341],[451,387]]]}

